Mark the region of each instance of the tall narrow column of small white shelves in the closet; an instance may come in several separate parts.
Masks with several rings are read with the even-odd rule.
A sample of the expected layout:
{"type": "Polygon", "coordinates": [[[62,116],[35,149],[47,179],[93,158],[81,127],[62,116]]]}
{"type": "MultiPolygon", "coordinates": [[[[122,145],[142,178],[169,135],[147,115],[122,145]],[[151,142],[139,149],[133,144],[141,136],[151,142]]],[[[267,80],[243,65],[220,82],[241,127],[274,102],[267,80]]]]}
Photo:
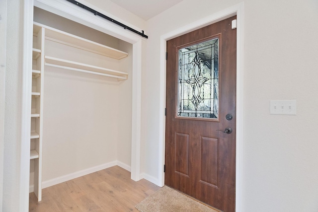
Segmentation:
{"type": "Polygon", "coordinates": [[[38,201],[42,199],[44,41],[45,28],[33,25],[30,185],[38,201]]]}

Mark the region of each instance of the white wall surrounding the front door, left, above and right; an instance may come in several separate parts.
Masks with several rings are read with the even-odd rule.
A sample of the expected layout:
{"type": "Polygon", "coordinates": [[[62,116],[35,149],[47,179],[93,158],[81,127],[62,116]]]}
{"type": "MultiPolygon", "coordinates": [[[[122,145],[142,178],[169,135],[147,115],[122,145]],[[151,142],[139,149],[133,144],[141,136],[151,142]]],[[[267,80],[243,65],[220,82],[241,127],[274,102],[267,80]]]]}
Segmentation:
{"type": "MultiPolygon", "coordinates": [[[[145,172],[154,178],[160,36],[239,2],[183,0],[147,21],[145,172]]],[[[317,11],[316,0],[244,1],[244,212],[318,210],[317,11]],[[296,99],[297,115],[270,115],[271,99],[296,99]]]]}

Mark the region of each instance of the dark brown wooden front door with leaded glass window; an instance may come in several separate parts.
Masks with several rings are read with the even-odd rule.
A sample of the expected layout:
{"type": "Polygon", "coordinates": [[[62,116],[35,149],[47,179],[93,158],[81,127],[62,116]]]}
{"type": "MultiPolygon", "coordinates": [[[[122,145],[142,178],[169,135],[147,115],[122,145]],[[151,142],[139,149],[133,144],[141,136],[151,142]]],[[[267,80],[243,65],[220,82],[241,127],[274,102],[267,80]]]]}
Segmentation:
{"type": "Polygon", "coordinates": [[[165,185],[224,212],[235,211],[234,19],[167,41],[165,185]]]}

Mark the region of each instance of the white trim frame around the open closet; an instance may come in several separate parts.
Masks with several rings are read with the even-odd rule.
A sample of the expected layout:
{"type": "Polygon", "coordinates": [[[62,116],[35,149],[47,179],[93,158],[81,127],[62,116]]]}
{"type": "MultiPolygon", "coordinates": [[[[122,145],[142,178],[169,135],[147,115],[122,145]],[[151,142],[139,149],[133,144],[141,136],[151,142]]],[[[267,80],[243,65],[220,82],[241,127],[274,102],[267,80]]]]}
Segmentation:
{"type": "MultiPolygon", "coordinates": [[[[107,12],[97,8],[96,6],[83,2],[90,8],[101,13],[107,12]]],[[[81,9],[75,4],[65,0],[25,0],[24,1],[24,29],[23,29],[23,71],[22,71],[22,114],[21,114],[21,148],[20,148],[20,197],[19,206],[21,211],[28,211],[29,205],[29,170],[30,170],[30,113],[31,111],[31,87],[29,77],[32,72],[32,36],[33,36],[33,6],[40,7],[57,15],[66,17],[73,21],[79,22],[88,27],[94,28],[133,45],[133,69],[132,69],[132,135],[131,135],[131,179],[138,181],[141,179],[140,163],[141,163],[141,71],[142,71],[142,38],[135,35],[124,28],[106,21],[99,16],[91,15],[91,12],[81,9]]],[[[114,17],[116,18],[116,17],[114,17]]],[[[126,25],[129,25],[127,23],[126,25]]],[[[133,28],[138,28],[132,26],[133,28]]],[[[141,30],[140,30],[141,31],[141,30]]],[[[121,165],[109,163],[106,165],[121,165]]],[[[82,175],[88,174],[98,169],[107,168],[105,165],[96,166],[89,170],[84,170],[82,175]]],[[[74,177],[78,177],[72,175],[74,177]]],[[[71,177],[72,177],[71,176],[71,177]]],[[[74,178],[73,177],[73,178],[74,178]]],[[[63,178],[65,179],[65,178],[63,178]]],[[[63,180],[62,179],[62,180],[63,180]]],[[[65,180],[64,180],[65,181],[65,180]]],[[[54,181],[55,184],[59,183],[54,181]]],[[[52,182],[51,182],[52,184],[52,182]]],[[[45,188],[45,186],[43,186],[45,188]]]]}

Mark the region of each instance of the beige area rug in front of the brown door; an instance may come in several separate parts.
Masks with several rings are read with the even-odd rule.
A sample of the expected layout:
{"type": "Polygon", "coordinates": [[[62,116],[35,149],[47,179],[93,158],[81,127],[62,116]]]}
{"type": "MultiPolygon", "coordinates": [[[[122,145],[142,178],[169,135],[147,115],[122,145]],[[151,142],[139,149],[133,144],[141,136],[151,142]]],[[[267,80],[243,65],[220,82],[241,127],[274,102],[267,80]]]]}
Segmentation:
{"type": "Polygon", "coordinates": [[[218,212],[167,186],[136,205],[140,212],[218,212]]]}

